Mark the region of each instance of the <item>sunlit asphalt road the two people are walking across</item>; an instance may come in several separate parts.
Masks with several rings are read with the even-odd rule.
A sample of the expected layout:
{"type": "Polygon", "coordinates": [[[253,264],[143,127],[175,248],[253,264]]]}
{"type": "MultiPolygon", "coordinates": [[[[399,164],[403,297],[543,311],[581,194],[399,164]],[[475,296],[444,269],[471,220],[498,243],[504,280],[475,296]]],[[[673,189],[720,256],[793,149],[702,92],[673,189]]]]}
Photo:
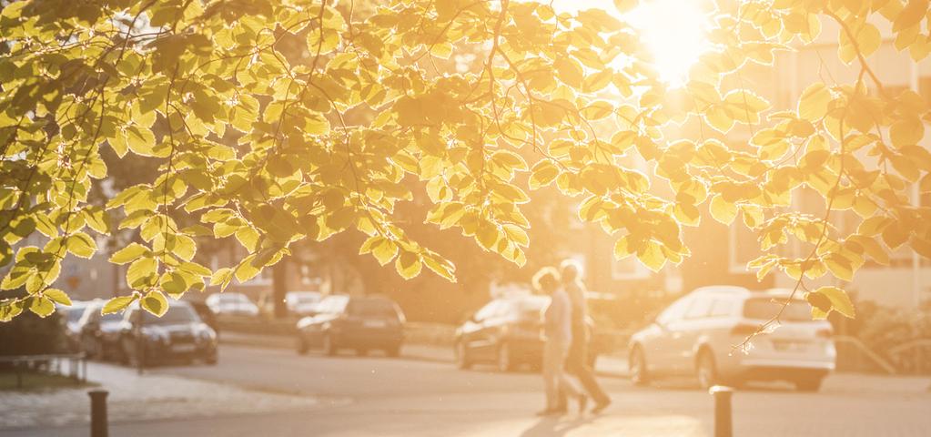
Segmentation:
{"type": "MultiPolygon", "coordinates": [[[[620,378],[601,378],[614,398],[604,413],[540,419],[533,416],[543,406],[539,376],[480,367],[461,371],[444,362],[299,357],[289,350],[224,346],[216,367],[161,367],[153,372],[315,396],[324,402],[300,413],[116,423],[112,436],[710,436],[713,427],[711,399],[691,381],[643,389],[620,378]]],[[[841,375],[831,376],[818,393],[797,393],[778,384],[751,387],[735,394],[735,435],[928,435],[927,385],[927,378],[841,375]]]]}

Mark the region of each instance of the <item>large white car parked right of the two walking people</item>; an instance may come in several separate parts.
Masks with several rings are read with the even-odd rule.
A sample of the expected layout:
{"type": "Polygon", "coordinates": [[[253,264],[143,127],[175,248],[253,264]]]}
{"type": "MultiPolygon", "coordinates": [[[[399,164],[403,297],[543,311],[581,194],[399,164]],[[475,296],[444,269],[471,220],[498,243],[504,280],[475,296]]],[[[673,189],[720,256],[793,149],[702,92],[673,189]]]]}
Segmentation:
{"type": "Polygon", "coordinates": [[[813,321],[805,301],[793,299],[775,330],[753,337],[749,348],[735,348],[773,318],[788,297],[788,290],[722,285],[685,295],[631,336],[631,379],[645,385],[659,376],[695,375],[703,388],[787,380],[799,390],[816,391],[834,370],[837,351],[830,323],[813,321]]]}

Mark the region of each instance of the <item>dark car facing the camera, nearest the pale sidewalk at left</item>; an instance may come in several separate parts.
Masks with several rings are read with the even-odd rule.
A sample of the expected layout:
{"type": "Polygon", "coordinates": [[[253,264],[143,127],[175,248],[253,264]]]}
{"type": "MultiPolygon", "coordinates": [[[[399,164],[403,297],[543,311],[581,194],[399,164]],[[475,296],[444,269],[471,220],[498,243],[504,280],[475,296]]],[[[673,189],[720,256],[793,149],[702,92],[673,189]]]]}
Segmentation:
{"type": "Polygon", "coordinates": [[[161,317],[130,307],[120,323],[120,346],[125,361],[134,366],[176,360],[217,363],[217,333],[183,301],[173,302],[161,317]]]}

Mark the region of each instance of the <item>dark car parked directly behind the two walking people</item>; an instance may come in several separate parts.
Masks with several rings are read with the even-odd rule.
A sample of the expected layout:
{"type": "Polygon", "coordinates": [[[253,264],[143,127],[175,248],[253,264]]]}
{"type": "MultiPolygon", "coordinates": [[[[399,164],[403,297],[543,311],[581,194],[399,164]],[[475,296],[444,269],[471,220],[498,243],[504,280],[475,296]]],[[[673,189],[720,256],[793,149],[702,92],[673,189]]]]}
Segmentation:
{"type": "MultiPolygon", "coordinates": [[[[522,364],[539,369],[543,363],[541,314],[549,297],[518,294],[492,300],[456,329],[454,347],[456,363],[461,369],[472,364],[492,363],[502,372],[512,372],[522,364]]],[[[592,328],[588,363],[594,365],[599,353],[608,346],[603,335],[592,328]]]]}

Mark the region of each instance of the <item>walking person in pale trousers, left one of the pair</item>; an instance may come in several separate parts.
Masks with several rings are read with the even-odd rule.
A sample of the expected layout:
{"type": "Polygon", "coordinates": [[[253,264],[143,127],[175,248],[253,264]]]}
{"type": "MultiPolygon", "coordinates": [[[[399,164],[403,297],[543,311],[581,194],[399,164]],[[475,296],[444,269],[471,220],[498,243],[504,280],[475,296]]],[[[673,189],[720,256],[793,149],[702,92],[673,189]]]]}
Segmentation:
{"type": "Polygon", "coordinates": [[[537,290],[550,295],[543,314],[545,344],[543,349],[543,380],[546,389],[546,409],[537,416],[557,416],[568,411],[567,396],[578,399],[579,411],[585,411],[587,398],[566,376],[563,367],[572,344],[572,303],[560,287],[560,274],[553,267],[544,267],[533,275],[537,290]]]}

